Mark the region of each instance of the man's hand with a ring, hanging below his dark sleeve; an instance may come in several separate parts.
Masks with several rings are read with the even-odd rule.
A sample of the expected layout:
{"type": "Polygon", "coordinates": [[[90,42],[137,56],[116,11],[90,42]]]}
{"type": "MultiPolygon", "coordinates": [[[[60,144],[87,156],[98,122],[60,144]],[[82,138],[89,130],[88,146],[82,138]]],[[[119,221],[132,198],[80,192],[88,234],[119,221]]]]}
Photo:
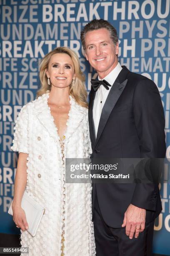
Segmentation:
{"type": "Polygon", "coordinates": [[[146,210],[130,204],[125,212],[122,228],[126,226],[126,235],[130,239],[138,238],[139,233],[145,229],[146,210]]]}

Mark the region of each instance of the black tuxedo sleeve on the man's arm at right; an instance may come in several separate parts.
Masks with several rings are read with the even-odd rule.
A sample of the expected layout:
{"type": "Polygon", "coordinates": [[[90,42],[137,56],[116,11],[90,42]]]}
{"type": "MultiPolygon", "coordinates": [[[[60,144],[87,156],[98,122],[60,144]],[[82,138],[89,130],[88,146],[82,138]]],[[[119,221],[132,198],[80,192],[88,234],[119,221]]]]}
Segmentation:
{"type": "MultiPolygon", "coordinates": [[[[164,158],[165,117],[160,94],[155,83],[140,80],[133,95],[133,112],[138,133],[141,158],[164,158]]],[[[158,184],[136,184],[131,203],[146,210],[155,210],[158,184]]]]}

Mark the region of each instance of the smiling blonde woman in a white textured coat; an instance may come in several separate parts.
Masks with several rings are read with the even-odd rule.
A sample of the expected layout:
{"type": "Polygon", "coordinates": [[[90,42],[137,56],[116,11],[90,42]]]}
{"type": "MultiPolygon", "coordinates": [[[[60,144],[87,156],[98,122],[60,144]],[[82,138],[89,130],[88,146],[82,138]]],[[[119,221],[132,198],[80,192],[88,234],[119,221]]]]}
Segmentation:
{"type": "Polygon", "coordinates": [[[37,99],[21,109],[15,126],[12,149],[20,154],[13,219],[30,256],[92,256],[91,184],[65,183],[65,157],[87,158],[91,153],[87,92],[75,52],[57,47],[45,55],[40,81],[37,99]],[[35,237],[25,231],[25,187],[45,207],[35,237]]]}

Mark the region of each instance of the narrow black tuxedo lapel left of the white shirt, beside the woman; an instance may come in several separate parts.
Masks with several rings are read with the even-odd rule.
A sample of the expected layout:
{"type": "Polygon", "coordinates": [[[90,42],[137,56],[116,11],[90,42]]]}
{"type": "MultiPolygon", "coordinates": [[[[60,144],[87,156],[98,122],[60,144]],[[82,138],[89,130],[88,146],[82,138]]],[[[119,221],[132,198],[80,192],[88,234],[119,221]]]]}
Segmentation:
{"type": "Polygon", "coordinates": [[[95,100],[95,94],[96,92],[93,90],[93,88],[90,91],[90,100],[89,100],[89,111],[88,111],[88,116],[89,116],[89,130],[90,130],[90,139],[93,145],[95,145],[95,125],[94,125],[94,120],[93,120],[93,105],[94,105],[94,100],[95,100]]]}

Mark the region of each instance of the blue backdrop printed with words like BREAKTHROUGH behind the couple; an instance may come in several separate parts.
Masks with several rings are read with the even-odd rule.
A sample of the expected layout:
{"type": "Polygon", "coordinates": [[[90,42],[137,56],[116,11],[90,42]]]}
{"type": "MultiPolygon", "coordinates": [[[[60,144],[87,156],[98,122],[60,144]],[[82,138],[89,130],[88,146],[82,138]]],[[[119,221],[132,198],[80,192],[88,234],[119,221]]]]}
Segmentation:
{"type": "Polygon", "coordinates": [[[84,57],[80,31],[93,18],[115,26],[120,64],[152,79],[162,97],[167,161],[154,252],[170,255],[170,0],[0,0],[0,233],[18,232],[7,214],[18,159],[10,146],[20,108],[39,88],[38,62],[56,46],[69,46],[80,58],[89,91],[97,74],[84,57]]]}

